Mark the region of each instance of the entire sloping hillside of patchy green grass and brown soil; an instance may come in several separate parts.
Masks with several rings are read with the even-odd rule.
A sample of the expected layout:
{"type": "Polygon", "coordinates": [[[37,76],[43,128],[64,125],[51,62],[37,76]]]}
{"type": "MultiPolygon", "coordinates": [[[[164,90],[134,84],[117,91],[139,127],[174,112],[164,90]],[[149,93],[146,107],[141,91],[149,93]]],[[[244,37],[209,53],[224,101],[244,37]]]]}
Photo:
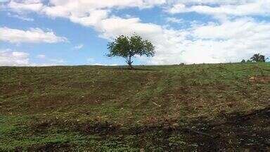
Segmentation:
{"type": "Polygon", "coordinates": [[[269,76],[269,63],[1,67],[0,151],[269,150],[269,76]]]}

